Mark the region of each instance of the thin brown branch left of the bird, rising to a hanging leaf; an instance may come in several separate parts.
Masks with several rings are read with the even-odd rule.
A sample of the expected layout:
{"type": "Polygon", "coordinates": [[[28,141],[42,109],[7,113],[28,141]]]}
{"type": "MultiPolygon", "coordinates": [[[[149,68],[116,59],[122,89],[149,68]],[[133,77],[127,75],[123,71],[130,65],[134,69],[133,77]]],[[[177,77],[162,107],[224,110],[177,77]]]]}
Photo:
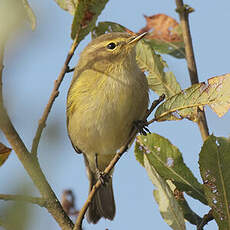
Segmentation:
{"type": "Polygon", "coordinates": [[[42,114],[42,117],[41,119],[39,120],[38,122],[38,128],[37,128],[37,131],[36,131],[36,134],[35,134],[35,137],[33,139],[33,144],[32,144],[32,148],[31,148],[31,152],[33,154],[37,154],[37,150],[38,150],[38,144],[39,144],[39,141],[40,141],[40,138],[41,138],[41,135],[42,135],[42,131],[43,129],[46,127],[46,121],[47,121],[47,118],[48,118],[48,115],[50,113],[50,110],[53,106],[53,103],[56,99],[56,97],[58,96],[59,94],[59,87],[62,83],[62,80],[64,79],[64,76],[66,73],[68,72],[71,72],[72,69],[70,70],[69,69],[69,62],[71,60],[71,58],[73,57],[73,54],[74,54],[74,51],[76,50],[77,46],[78,46],[78,36],[76,35],[73,43],[72,43],[72,46],[68,52],[68,55],[66,57],[66,60],[64,62],[64,65],[61,69],[61,72],[58,76],[58,78],[54,81],[54,88],[51,92],[51,95],[50,95],[50,98],[49,98],[49,101],[43,111],[43,114],[42,114]]]}

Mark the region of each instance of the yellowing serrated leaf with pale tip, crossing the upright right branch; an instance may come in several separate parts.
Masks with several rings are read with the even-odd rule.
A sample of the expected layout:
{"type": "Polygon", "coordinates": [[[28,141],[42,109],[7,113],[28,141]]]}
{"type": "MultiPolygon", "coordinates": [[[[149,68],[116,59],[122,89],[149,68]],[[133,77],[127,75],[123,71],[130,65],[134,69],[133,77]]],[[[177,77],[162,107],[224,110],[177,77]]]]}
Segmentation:
{"type": "Polygon", "coordinates": [[[230,108],[230,74],[210,78],[208,83],[199,83],[168,98],[155,112],[157,121],[196,121],[197,107],[209,105],[219,117],[230,108]],[[193,110],[191,110],[193,109],[193,110]]]}

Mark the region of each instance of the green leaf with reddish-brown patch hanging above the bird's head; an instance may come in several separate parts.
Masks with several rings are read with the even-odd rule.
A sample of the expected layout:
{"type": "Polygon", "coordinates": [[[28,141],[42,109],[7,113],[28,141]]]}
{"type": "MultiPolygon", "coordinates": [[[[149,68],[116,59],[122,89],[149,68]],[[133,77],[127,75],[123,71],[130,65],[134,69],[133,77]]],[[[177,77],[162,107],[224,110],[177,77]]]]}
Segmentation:
{"type": "Polygon", "coordinates": [[[78,0],[71,29],[71,38],[78,34],[80,42],[93,29],[98,16],[101,14],[108,0],[78,0]]]}

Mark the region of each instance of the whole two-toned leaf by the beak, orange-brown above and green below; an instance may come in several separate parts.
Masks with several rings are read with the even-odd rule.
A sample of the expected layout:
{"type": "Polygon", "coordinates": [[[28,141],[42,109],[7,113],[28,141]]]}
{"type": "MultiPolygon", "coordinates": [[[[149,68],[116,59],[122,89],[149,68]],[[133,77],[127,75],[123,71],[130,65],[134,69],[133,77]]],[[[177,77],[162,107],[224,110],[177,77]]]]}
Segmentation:
{"type": "Polygon", "coordinates": [[[145,16],[146,26],[139,33],[149,32],[146,38],[151,47],[160,53],[185,58],[183,37],[179,23],[165,14],[145,16]]]}

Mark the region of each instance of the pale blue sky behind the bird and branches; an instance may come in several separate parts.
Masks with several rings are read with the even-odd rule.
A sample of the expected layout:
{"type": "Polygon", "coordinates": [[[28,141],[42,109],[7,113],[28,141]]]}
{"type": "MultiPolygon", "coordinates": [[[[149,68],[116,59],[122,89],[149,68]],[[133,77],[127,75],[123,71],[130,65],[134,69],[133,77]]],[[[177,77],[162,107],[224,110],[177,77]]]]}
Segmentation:
{"type": "MultiPolygon", "coordinates": [[[[187,1],[195,8],[191,14],[191,32],[200,81],[230,72],[229,71],[229,21],[230,3],[221,1],[187,1]]],[[[4,69],[5,103],[15,127],[28,148],[37,128],[37,122],[46,105],[54,80],[57,78],[66,54],[71,45],[70,28],[72,16],[50,1],[30,0],[37,16],[37,28],[29,28],[18,34],[8,43],[4,69]]],[[[111,0],[98,21],[114,21],[133,31],[145,25],[145,15],[165,13],[176,19],[175,2],[111,0]]],[[[89,42],[88,36],[79,46],[71,61],[71,67],[77,63],[80,51],[89,42]]],[[[174,72],[182,88],[190,85],[186,62],[167,55],[163,56],[174,72]]],[[[75,154],[67,137],[65,125],[66,94],[72,74],[67,74],[60,88],[51,114],[48,118],[39,145],[41,167],[60,198],[64,189],[73,189],[77,207],[80,208],[88,193],[88,180],[82,156],[75,154]]],[[[210,133],[216,136],[229,136],[229,112],[218,118],[207,108],[207,120],[210,133]]],[[[198,168],[198,153],[202,139],[198,127],[187,120],[177,122],[154,123],[151,131],[168,138],[183,154],[185,163],[201,181],[198,168]]],[[[7,144],[2,133],[0,140],[7,144]]],[[[7,163],[1,167],[0,193],[22,191],[25,185],[33,188],[30,178],[13,152],[7,163]]],[[[88,225],[84,229],[170,229],[161,218],[152,195],[154,189],[148,176],[135,160],[133,147],[122,157],[116,166],[113,177],[117,206],[114,221],[101,220],[98,225],[88,225]]],[[[37,189],[32,194],[38,195],[37,189]]],[[[191,207],[201,216],[208,208],[198,201],[188,198],[191,207]]],[[[0,201],[0,205],[2,205],[0,201]]],[[[4,202],[4,205],[8,205],[4,202]]],[[[45,209],[31,207],[36,215],[27,229],[57,229],[57,224],[45,209]]],[[[1,213],[0,213],[1,215],[1,213]]],[[[195,229],[187,224],[187,229],[195,229]]],[[[210,222],[205,229],[217,229],[210,222]]]]}

